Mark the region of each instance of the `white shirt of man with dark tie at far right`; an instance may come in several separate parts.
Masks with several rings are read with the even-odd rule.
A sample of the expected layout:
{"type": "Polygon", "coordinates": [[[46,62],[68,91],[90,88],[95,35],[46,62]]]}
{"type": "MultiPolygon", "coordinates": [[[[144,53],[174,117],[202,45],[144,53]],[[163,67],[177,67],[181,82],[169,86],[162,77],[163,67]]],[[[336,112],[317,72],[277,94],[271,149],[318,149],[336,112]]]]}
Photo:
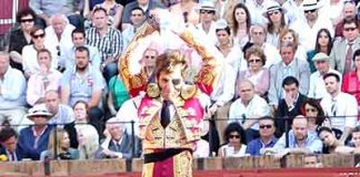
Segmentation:
{"type": "MultiPolygon", "coordinates": [[[[331,127],[339,128],[340,131],[343,131],[346,127],[354,127],[358,118],[358,102],[356,97],[348,93],[339,92],[334,100],[337,116],[339,117],[330,117],[331,127]]],[[[330,94],[326,94],[320,104],[326,115],[333,116],[331,112],[332,97],[330,94]]]]}

